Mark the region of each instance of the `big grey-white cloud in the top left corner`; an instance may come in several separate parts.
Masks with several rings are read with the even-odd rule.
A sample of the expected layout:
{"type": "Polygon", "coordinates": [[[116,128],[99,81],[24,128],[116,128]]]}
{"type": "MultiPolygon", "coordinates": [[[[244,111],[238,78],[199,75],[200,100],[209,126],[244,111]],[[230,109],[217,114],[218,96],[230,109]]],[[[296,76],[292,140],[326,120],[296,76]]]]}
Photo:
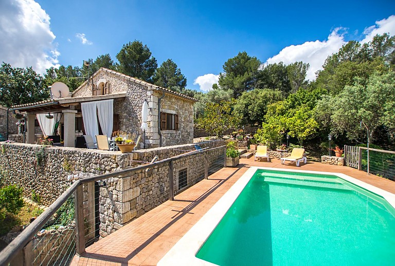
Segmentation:
{"type": "Polygon", "coordinates": [[[45,73],[58,67],[49,15],[33,0],[0,1],[0,62],[45,73]]]}

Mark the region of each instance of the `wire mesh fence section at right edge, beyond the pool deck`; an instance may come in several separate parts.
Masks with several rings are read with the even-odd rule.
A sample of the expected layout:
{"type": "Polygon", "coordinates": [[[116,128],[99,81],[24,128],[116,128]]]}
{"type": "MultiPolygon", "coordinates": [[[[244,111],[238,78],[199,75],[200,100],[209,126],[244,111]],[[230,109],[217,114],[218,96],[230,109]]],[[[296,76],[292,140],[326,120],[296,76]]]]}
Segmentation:
{"type": "MultiPolygon", "coordinates": [[[[368,170],[367,149],[362,150],[362,170],[368,170]]],[[[385,150],[369,149],[369,173],[395,181],[395,153],[385,150]]]]}

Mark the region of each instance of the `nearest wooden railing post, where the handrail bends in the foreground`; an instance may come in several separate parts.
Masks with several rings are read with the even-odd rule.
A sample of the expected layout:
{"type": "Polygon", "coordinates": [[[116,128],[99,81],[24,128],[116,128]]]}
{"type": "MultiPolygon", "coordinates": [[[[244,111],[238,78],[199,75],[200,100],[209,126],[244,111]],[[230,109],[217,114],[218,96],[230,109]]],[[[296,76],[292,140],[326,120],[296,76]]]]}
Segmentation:
{"type": "Polygon", "coordinates": [[[74,192],[76,206],[76,252],[79,256],[85,253],[85,228],[84,228],[84,197],[82,185],[74,192]]]}

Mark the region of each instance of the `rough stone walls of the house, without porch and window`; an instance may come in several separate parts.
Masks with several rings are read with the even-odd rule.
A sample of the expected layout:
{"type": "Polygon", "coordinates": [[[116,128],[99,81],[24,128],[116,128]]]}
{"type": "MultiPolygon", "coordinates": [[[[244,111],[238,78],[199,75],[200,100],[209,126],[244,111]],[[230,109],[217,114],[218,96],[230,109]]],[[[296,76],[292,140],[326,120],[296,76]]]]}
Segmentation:
{"type": "MultiPolygon", "coordinates": [[[[92,84],[99,80],[108,81],[110,94],[126,92],[123,101],[114,101],[114,113],[118,114],[119,129],[137,135],[144,135],[141,126],[141,109],[147,100],[148,130],[145,132],[146,147],[171,146],[193,142],[193,104],[194,100],[179,93],[159,88],[155,85],[134,79],[116,71],[101,68],[89,80],[73,92],[73,97],[92,97],[92,84]],[[164,98],[160,99],[161,97],[164,98]],[[160,130],[160,111],[178,115],[178,130],[160,130]]],[[[141,148],[141,147],[138,147],[141,148]]]]}

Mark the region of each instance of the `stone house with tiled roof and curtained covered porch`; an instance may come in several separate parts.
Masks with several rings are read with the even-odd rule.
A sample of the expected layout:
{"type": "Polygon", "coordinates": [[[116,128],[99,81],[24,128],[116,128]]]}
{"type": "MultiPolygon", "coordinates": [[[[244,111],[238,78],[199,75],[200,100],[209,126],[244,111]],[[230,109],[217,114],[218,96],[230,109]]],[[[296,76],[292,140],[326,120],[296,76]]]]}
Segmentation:
{"type": "Polygon", "coordinates": [[[111,136],[117,130],[142,135],[138,148],[193,142],[193,104],[196,99],[114,70],[100,68],[72,93],[60,95],[59,98],[52,94],[51,98],[11,106],[11,111],[27,113],[27,143],[34,143],[36,115],[48,113],[59,115],[58,133],[66,147],[75,146],[76,135],[91,135],[95,139],[94,135],[111,136]],[[144,121],[146,127],[142,125],[144,102],[148,105],[147,121],[144,121]],[[86,108],[91,108],[87,106],[94,108],[89,109],[93,110],[89,117],[91,120],[87,119],[87,115],[84,117],[86,108]],[[103,122],[103,116],[111,118],[103,122]],[[97,130],[94,134],[92,132],[95,130],[92,131],[91,127],[95,123],[97,130]]]}

